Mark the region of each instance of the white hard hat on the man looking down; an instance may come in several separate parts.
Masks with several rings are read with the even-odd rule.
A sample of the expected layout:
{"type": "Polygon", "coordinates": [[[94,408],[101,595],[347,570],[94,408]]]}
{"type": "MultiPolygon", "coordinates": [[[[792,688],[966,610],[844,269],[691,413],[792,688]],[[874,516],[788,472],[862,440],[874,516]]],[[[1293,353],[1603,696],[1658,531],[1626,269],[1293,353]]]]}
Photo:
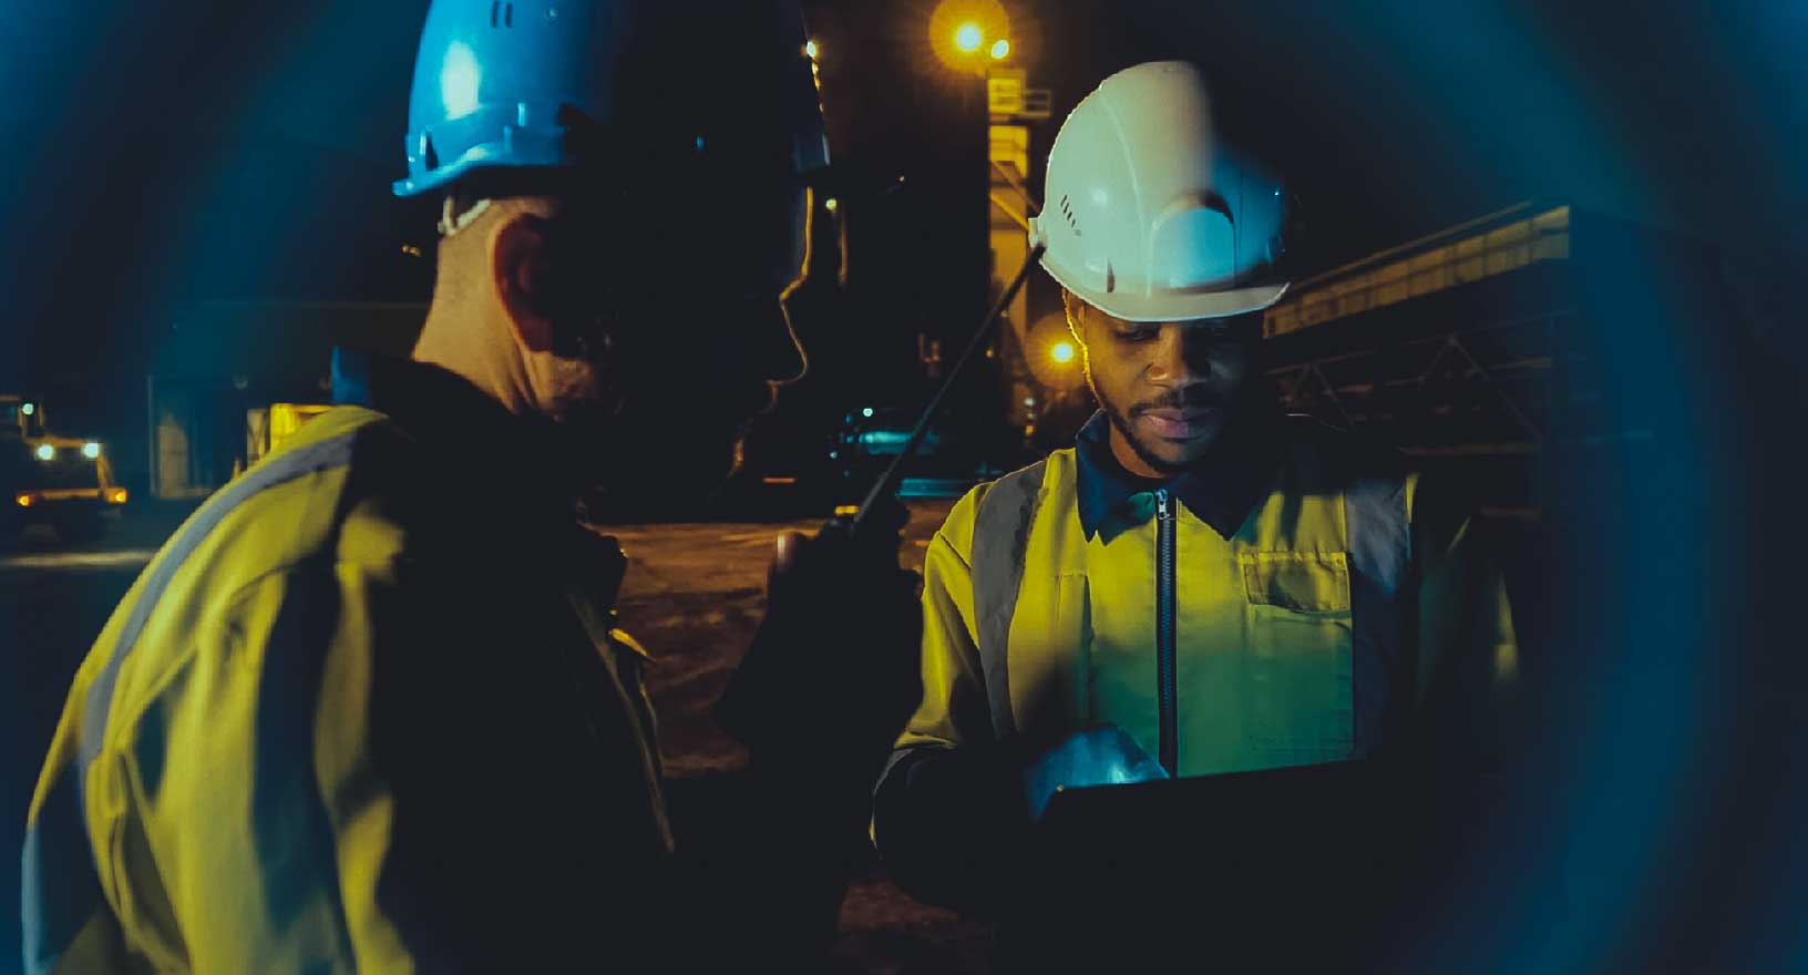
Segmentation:
{"type": "Polygon", "coordinates": [[[1184,62],[1119,71],[1061,123],[1047,206],[1031,237],[1041,266],[1128,322],[1222,318],[1287,291],[1280,186],[1217,147],[1204,78],[1184,62]]]}

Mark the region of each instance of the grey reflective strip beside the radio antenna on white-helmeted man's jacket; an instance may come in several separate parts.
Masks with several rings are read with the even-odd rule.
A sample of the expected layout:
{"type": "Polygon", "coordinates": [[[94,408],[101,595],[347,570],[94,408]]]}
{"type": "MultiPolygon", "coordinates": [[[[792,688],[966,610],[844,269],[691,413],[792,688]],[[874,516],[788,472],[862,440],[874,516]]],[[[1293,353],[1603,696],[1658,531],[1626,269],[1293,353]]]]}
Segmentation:
{"type": "Polygon", "coordinates": [[[1041,496],[1049,461],[1041,459],[1000,478],[973,516],[973,617],[980,642],[980,673],[985,702],[993,713],[993,733],[1005,738],[1016,731],[1011,716],[1011,675],[1005,644],[1023,584],[1023,550],[1029,525],[1041,496]]]}

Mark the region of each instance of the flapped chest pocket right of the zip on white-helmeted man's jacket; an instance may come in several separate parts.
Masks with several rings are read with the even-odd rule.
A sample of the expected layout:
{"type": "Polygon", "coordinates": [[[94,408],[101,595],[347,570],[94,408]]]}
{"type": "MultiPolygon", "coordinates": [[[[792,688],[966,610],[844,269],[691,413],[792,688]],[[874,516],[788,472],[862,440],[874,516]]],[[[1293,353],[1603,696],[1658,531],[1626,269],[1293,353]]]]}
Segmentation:
{"type": "Polygon", "coordinates": [[[1354,747],[1351,570],[1343,552],[1238,552],[1249,695],[1244,734],[1269,763],[1354,747]]]}

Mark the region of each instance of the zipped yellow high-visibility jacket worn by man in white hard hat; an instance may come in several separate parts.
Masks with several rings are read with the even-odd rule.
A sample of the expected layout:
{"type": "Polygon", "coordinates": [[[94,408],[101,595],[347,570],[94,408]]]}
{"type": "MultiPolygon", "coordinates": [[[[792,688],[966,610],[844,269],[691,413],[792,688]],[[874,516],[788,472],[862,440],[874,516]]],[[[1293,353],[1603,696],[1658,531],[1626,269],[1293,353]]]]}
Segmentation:
{"type": "MultiPolygon", "coordinates": [[[[1110,722],[1179,776],[1342,762],[1390,745],[1434,686],[1499,702],[1517,682],[1501,573],[1417,474],[1276,421],[1271,452],[1244,452],[1260,476],[1248,505],[1224,490],[1195,512],[1163,488],[1085,510],[1103,436],[1101,414],[1078,452],[976,487],[931,539],[924,698],[877,792],[880,852],[888,796],[911,816],[975,792],[918,781],[942,754],[1110,722]]],[[[1479,727],[1492,716],[1474,720],[1475,745],[1497,749],[1499,725],[1479,727]]],[[[891,848],[946,834],[918,832],[891,848]]]]}

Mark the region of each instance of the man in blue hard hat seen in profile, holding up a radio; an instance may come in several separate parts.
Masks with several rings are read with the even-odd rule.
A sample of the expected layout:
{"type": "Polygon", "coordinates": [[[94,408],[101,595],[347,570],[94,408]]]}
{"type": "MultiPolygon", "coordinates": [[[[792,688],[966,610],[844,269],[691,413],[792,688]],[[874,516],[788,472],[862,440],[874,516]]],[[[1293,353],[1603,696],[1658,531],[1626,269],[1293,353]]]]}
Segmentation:
{"type": "Polygon", "coordinates": [[[157,554],[76,675],[24,848],[29,971],[796,966],[915,698],[895,548],[781,539],[730,836],[673,828],[624,561],[573,499],[694,494],[803,371],[826,165],[792,4],[439,0],[400,195],[407,362],[157,554]],[[676,72],[676,43],[707,72],[676,72]],[[859,653],[844,653],[859,648],[859,653]],[[694,932],[694,933],[685,933],[694,932]]]}

